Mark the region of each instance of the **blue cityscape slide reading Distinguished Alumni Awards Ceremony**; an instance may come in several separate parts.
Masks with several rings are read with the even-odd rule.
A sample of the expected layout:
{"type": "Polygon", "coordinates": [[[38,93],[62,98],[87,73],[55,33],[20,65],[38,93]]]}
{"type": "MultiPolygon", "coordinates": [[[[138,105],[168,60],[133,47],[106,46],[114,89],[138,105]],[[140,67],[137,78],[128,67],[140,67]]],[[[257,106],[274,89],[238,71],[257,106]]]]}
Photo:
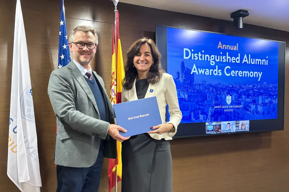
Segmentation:
{"type": "Polygon", "coordinates": [[[183,114],[181,123],[277,118],[278,42],[167,28],[167,72],[176,83],[183,114]],[[220,42],[232,48],[238,44],[238,50],[218,48],[220,42]],[[200,60],[199,55],[198,59],[195,55],[194,59],[192,55],[188,57],[188,50],[191,54],[200,52],[204,57],[228,54],[232,59],[240,54],[240,62],[213,60],[212,65],[208,60],[200,60]],[[250,55],[255,63],[256,59],[266,62],[242,63],[245,54],[247,61],[250,55]],[[191,74],[194,65],[197,73],[191,74]],[[230,67],[226,69],[229,76],[224,71],[226,66],[230,67]],[[211,74],[206,75],[206,69],[211,74]],[[232,70],[238,71],[237,76],[232,76],[232,70]],[[243,76],[243,71],[251,76],[243,76]]]}

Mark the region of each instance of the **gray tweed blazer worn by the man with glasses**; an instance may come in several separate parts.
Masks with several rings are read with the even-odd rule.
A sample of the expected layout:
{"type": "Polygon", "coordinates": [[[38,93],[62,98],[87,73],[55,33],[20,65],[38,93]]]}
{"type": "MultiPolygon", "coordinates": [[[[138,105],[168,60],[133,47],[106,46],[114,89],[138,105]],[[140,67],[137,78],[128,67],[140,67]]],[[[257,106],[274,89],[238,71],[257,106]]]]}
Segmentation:
{"type": "Polygon", "coordinates": [[[103,79],[95,71],[93,74],[104,96],[109,122],[100,120],[92,91],[73,61],[51,73],[48,95],[57,117],[54,151],[57,165],[92,166],[98,156],[101,138],[104,139],[104,157],[117,157],[116,140],[107,134],[109,124],[114,124],[113,107],[103,79]]]}

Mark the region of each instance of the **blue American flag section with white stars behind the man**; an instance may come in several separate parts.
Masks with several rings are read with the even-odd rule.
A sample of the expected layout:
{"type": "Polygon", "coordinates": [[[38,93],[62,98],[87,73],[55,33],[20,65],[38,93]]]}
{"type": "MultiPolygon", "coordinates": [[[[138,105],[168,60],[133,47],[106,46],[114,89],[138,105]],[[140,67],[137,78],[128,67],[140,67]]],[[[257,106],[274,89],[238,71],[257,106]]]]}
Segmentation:
{"type": "Polygon", "coordinates": [[[66,66],[71,61],[67,39],[63,0],[60,0],[60,10],[61,16],[59,28],[58,68],[66,66]]]}

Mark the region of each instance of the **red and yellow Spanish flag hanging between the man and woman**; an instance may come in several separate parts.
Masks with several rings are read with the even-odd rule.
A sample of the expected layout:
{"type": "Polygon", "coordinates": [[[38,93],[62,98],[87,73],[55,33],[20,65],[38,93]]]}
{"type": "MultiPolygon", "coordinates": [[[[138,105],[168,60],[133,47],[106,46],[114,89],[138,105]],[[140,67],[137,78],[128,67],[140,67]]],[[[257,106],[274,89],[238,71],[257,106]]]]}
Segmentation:
{"type": "MultiPolygon", "coordinates": [[[[117,11],[117,10],[116,10],[117,11]]],[[[111,104],[121,103],[121,81],[124,78],[123,70],[123,53],[121,51],[120,35],[118,33],[118,11],[117,23],[113,26],[113,46],[112,46],[112,63],[111,63],[111,83],[110,83],[110,102],[111,104]],[[115,27],[117,27],[117,45],[115,45],[115,27]],[[117,58],[115,57],[117,56],[117,58]]],[[[109,159],[108,163],[108,191],[115,186],[115,167],[117,166],[117,182],[121,180],[121,142],[117,141],[117,158],[109,159]]]]}

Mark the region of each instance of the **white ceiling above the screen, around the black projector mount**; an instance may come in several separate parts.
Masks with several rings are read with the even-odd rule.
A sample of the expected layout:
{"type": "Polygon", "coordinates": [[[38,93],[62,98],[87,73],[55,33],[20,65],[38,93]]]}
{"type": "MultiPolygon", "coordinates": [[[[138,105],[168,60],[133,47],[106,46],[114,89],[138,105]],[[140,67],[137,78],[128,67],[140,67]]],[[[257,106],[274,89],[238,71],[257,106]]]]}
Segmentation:
{"type": "Polygon", "coordinates": [[[243,9],[249,12],[249,16],[243,20],[244,23],[289,32],[289,0],[119,0],[119,2],[230,21],[233,21],[230,13],[243,9]]]}

